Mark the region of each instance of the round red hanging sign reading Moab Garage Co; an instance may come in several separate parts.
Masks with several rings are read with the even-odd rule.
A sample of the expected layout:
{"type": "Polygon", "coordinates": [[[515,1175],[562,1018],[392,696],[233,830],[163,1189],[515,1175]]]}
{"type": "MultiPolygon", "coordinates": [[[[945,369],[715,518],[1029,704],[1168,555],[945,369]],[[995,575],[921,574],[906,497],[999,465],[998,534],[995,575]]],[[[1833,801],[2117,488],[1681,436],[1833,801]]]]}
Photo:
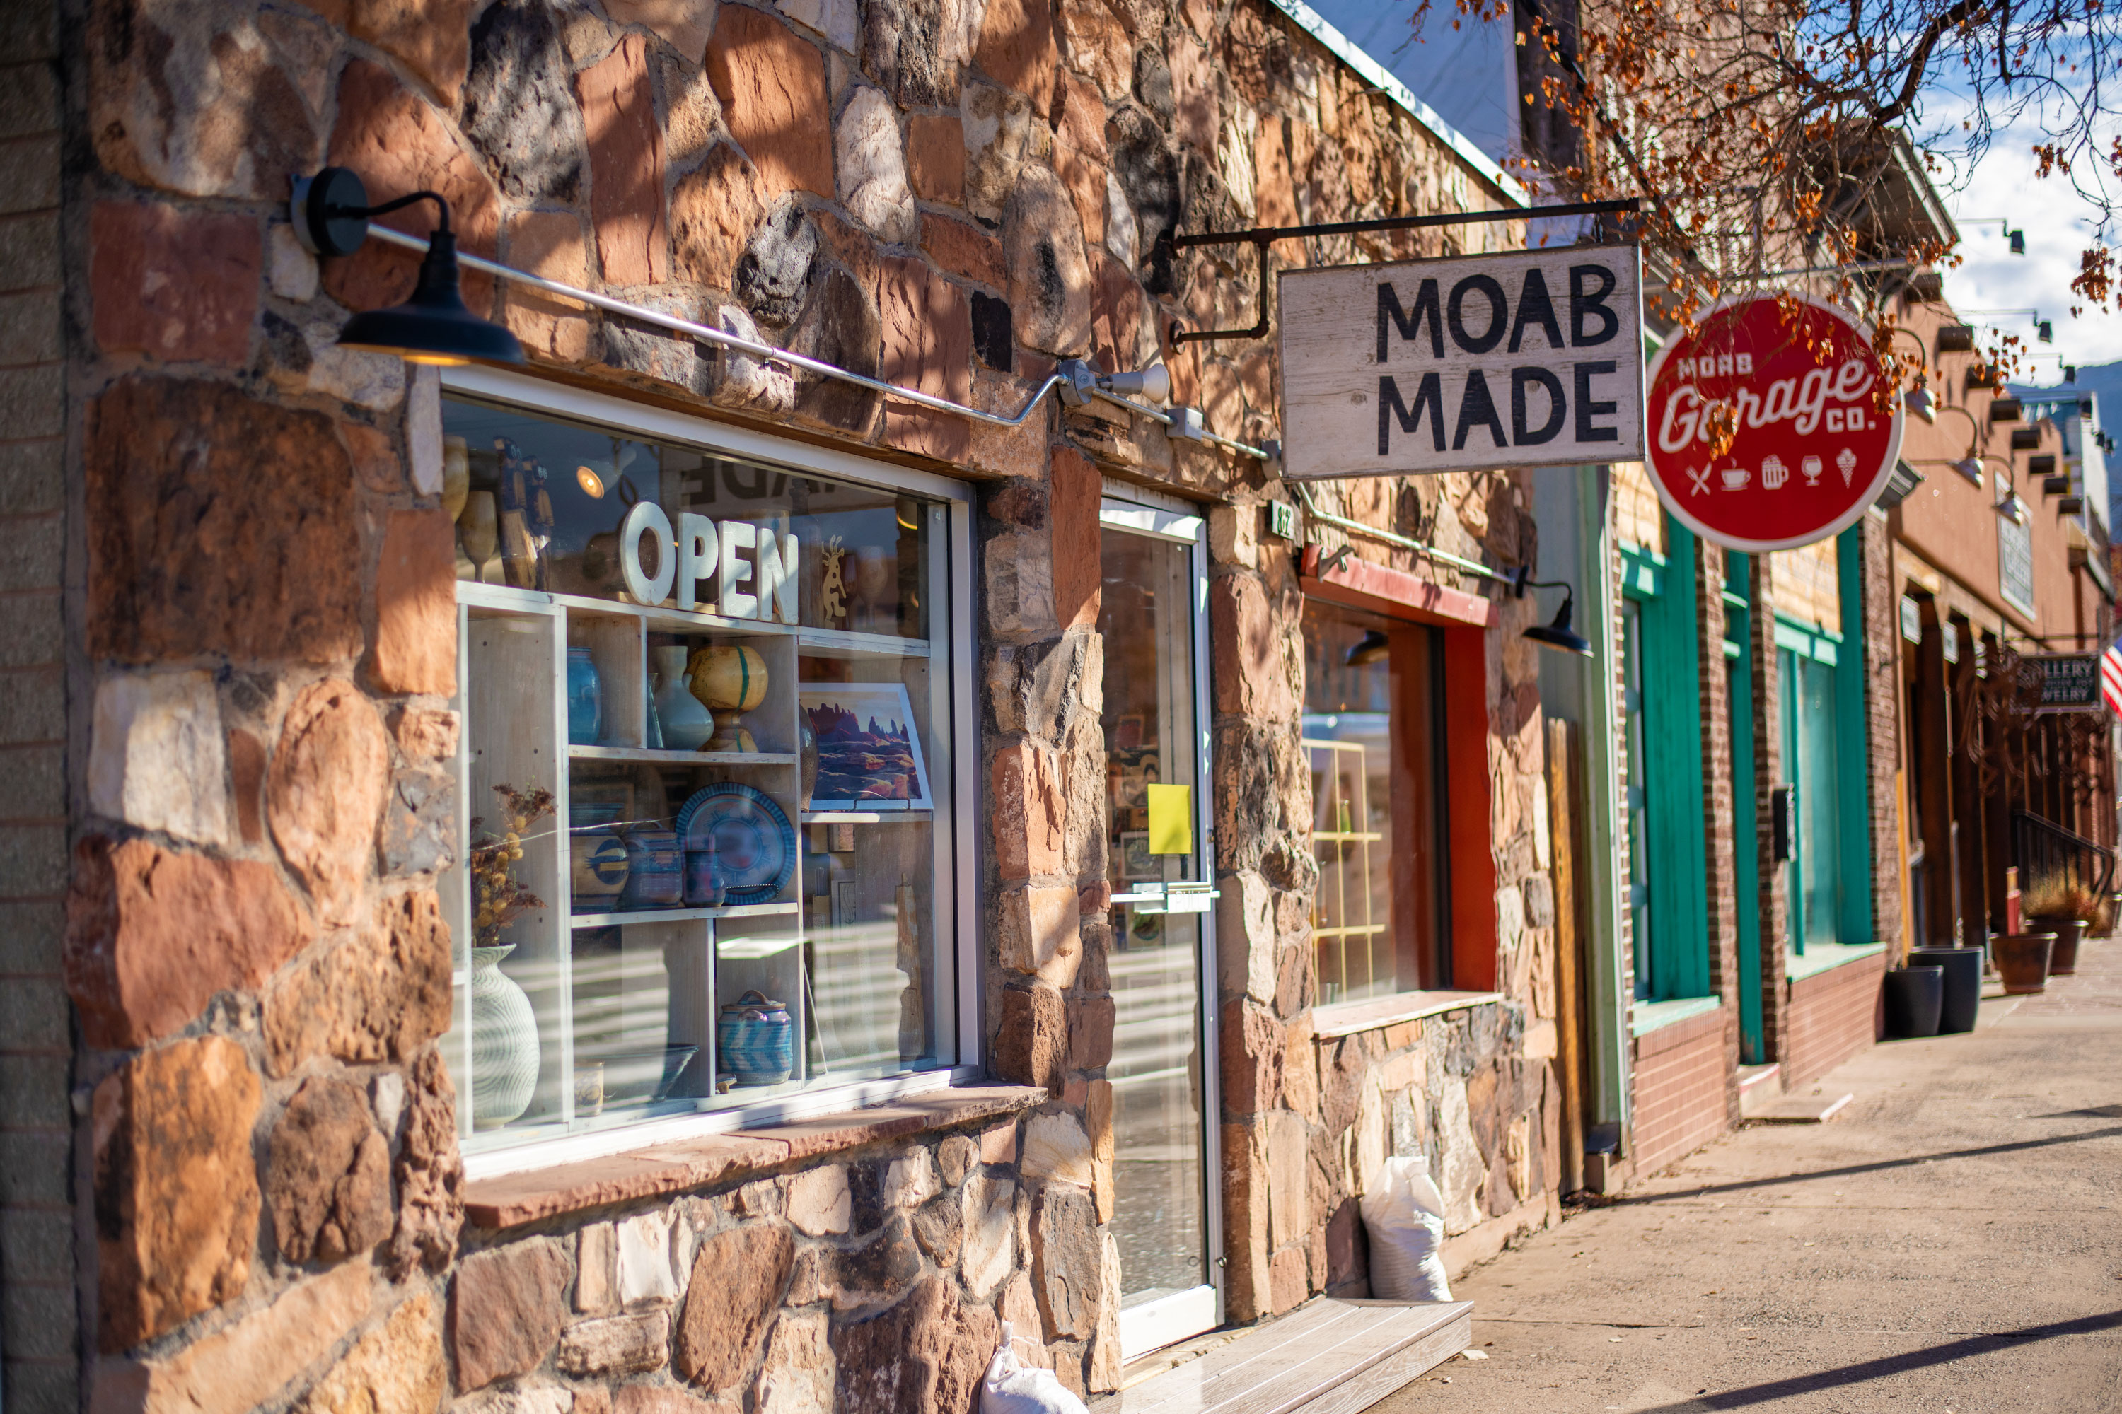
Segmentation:
{"type": "Polygon", "coordinates": [[[1651,363],[1649,471],[1657,498],[1729,549],[1793,549],[1863,515],[1901,454],[1901,409],[1882,418],[1872,341],[1838,310],[1797,295],[1710,310],[1651,363]],[[1715,426],[1734,424],[1712,456],[1715,426]]]}

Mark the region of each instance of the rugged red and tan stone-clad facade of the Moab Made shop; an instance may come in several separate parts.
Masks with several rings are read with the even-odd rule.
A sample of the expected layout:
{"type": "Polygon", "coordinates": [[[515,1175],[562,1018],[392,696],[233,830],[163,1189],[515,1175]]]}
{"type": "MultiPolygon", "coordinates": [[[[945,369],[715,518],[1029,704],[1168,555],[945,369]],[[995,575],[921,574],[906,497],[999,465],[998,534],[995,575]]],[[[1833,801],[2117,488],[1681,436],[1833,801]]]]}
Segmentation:
{"type": "MultiPolygon", "coordinates": [[[[1388,1153],[1428,1160],[1454,1263],[1553,1219],[1530,600],[1326,522],[1292,545],[1271,462],[1112,405],[980,424],[469,269],[554,401],[934,473],[972,511],[972,714],[932,761],[970,801],[955,1083],[477,1149],[443,1045],[486,808],[460,784],[486,600],[439,509],[463,384],[335,343],[405,297],[410,252],[318,261],[289,225],[291,180],[346,165],[378,201],[441,193],[465,252],[1004,416],[1059,358],[1163,360],[1258,445],[1273,337],[1173,341],[1258,318],[1252,248],[1173,231],[1521,199],[1375,74],[1263,0],[68,0],[6,42],[11,1408],[966,1410],[1004,1323],[1114,1389],[1099,517],[1129,494],[1205,517],[1214,1321],[1367,1291],[1356,1200],[1388,1153]],[[1437,630],[1456,990],[1322,1005],[1307,596],[1437,630]]],[[[424,235],[433,208],[382,220],[424,235]]],[[[1318,511],[1536,560],[1524,477],[1318,511]]]]}

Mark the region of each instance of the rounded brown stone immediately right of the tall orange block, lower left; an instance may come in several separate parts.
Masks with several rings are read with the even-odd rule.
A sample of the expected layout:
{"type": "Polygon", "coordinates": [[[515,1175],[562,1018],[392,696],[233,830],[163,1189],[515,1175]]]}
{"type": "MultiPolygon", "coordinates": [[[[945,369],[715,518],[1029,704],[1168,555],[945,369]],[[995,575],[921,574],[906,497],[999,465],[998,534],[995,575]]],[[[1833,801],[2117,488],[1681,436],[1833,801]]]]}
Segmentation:
{"type": "Polygon", "coordinates": [[[301,1083],[265,1149],[265,1202],[289,1261],[344,1261],[390,1236],[390,1145],[359,1088],[301,1083]]]}

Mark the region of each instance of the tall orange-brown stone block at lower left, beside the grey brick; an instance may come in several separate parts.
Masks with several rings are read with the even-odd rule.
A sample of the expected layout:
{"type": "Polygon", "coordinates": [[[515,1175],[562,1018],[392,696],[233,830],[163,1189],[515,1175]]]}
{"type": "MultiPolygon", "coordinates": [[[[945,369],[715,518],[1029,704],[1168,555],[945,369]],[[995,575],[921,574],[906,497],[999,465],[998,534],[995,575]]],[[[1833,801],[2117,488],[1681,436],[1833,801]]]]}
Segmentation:
{"type": "Polygon", "coordinates": [[[95,1088],[100,1346],[125,1350],[242,1295],[257,1242],[259,1077],[227,1037],[178,1041],[95,1088]]]}

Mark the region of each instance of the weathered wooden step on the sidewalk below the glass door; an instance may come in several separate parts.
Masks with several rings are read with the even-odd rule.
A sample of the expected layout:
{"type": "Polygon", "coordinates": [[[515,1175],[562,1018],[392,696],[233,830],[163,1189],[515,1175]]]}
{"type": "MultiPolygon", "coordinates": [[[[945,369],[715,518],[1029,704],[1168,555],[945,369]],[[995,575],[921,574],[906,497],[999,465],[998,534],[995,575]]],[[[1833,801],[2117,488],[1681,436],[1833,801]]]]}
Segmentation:
{"type": "Polygon", "coordinates": [[[1320,1297],[1093,1414],[1356,1414],[1473,1344],[1473,1302],[1320,1297]]]}

